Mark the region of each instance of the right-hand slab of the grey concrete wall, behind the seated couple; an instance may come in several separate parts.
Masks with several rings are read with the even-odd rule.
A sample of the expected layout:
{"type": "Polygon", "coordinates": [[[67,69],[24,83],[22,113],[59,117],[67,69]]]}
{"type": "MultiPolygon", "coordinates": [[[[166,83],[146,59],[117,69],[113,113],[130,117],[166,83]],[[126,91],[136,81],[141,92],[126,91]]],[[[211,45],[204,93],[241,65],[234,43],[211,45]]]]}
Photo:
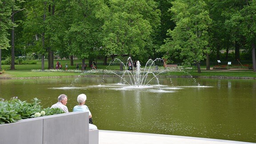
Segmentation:
{"type": "Polygon", "coordinates": [[[69,112],[44,119],[43,144],[88,144],[88,112],[69,112]]]}

